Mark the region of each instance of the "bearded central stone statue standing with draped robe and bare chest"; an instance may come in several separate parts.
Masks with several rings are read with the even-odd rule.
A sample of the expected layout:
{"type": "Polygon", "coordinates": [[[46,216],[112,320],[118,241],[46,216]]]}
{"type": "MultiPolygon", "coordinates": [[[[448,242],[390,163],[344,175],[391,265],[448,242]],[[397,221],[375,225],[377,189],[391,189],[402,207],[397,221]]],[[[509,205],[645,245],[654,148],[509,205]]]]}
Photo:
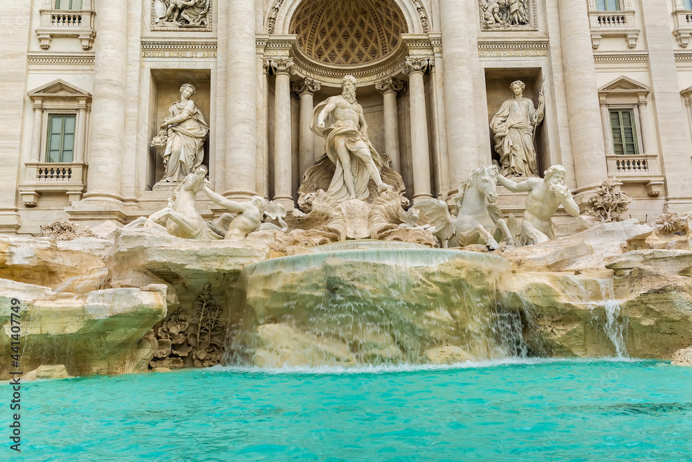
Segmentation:
{"type": "Polygon", "coordinates": [[[367,137],[363,108],[356,102],[356,79],[346,75],[341,85],[342,94],[317,105],[310,129],[324,136],[327,156],[336,165],[327,196],[336,202],[365,200],[371,178],[380,193],[392,186],[382,181],[380,156],[367,137]]]}

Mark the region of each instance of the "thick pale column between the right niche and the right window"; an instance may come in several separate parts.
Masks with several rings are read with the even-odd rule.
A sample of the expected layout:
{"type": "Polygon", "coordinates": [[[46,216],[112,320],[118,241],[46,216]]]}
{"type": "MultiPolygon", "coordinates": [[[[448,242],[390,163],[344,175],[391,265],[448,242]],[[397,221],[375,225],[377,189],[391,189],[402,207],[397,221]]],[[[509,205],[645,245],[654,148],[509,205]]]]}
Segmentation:
{"type": "Polygon", "coordinates": [[[608,177],[596,65],[586,2],[561,1],[558,10],[576,191],[581,193],[608,177]]]}

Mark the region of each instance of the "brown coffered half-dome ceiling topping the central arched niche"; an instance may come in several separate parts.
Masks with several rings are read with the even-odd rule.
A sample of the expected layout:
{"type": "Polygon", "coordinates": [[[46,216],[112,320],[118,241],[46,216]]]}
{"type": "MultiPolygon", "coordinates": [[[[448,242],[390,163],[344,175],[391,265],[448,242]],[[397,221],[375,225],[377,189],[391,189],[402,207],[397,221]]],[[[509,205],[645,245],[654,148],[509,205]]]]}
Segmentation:
{"type": "Polygon", "coordinates": [[[392,0],[310,0],[295,10],[289,33],[317,62],[357,66],[394,51],[408,25],[392,0]]]}

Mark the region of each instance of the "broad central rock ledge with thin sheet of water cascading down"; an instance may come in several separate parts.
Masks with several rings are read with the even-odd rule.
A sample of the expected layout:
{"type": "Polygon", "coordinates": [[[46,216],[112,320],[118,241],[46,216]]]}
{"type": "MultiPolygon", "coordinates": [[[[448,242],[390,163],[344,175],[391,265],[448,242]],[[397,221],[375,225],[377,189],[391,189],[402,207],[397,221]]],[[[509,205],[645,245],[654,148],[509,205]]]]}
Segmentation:
{"type": "Polygon", "coordinates": [[[527,355],[498,256],[345,242],[244,267],[226,364],[421,364],[527,355]]]}

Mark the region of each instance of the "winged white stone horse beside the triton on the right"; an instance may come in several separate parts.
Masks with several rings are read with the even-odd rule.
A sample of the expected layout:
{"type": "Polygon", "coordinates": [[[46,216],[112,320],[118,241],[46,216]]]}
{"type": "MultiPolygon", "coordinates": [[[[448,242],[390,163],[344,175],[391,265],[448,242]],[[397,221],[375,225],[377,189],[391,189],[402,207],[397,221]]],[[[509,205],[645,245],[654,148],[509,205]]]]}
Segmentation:
{"type": "Polygon", "coordinates": [[[514,238],[502,218],[498,199],[497,166],[481,167],[473,170],[452,203],[459,208],[457,215],[451,215],[444,201],[430,200],[416,206],[423,211],[435,225],[435,237],[442,247],[464,247],[471,244],[485,244],[498,249],[498,240],[514,245],[514,238]]]}

